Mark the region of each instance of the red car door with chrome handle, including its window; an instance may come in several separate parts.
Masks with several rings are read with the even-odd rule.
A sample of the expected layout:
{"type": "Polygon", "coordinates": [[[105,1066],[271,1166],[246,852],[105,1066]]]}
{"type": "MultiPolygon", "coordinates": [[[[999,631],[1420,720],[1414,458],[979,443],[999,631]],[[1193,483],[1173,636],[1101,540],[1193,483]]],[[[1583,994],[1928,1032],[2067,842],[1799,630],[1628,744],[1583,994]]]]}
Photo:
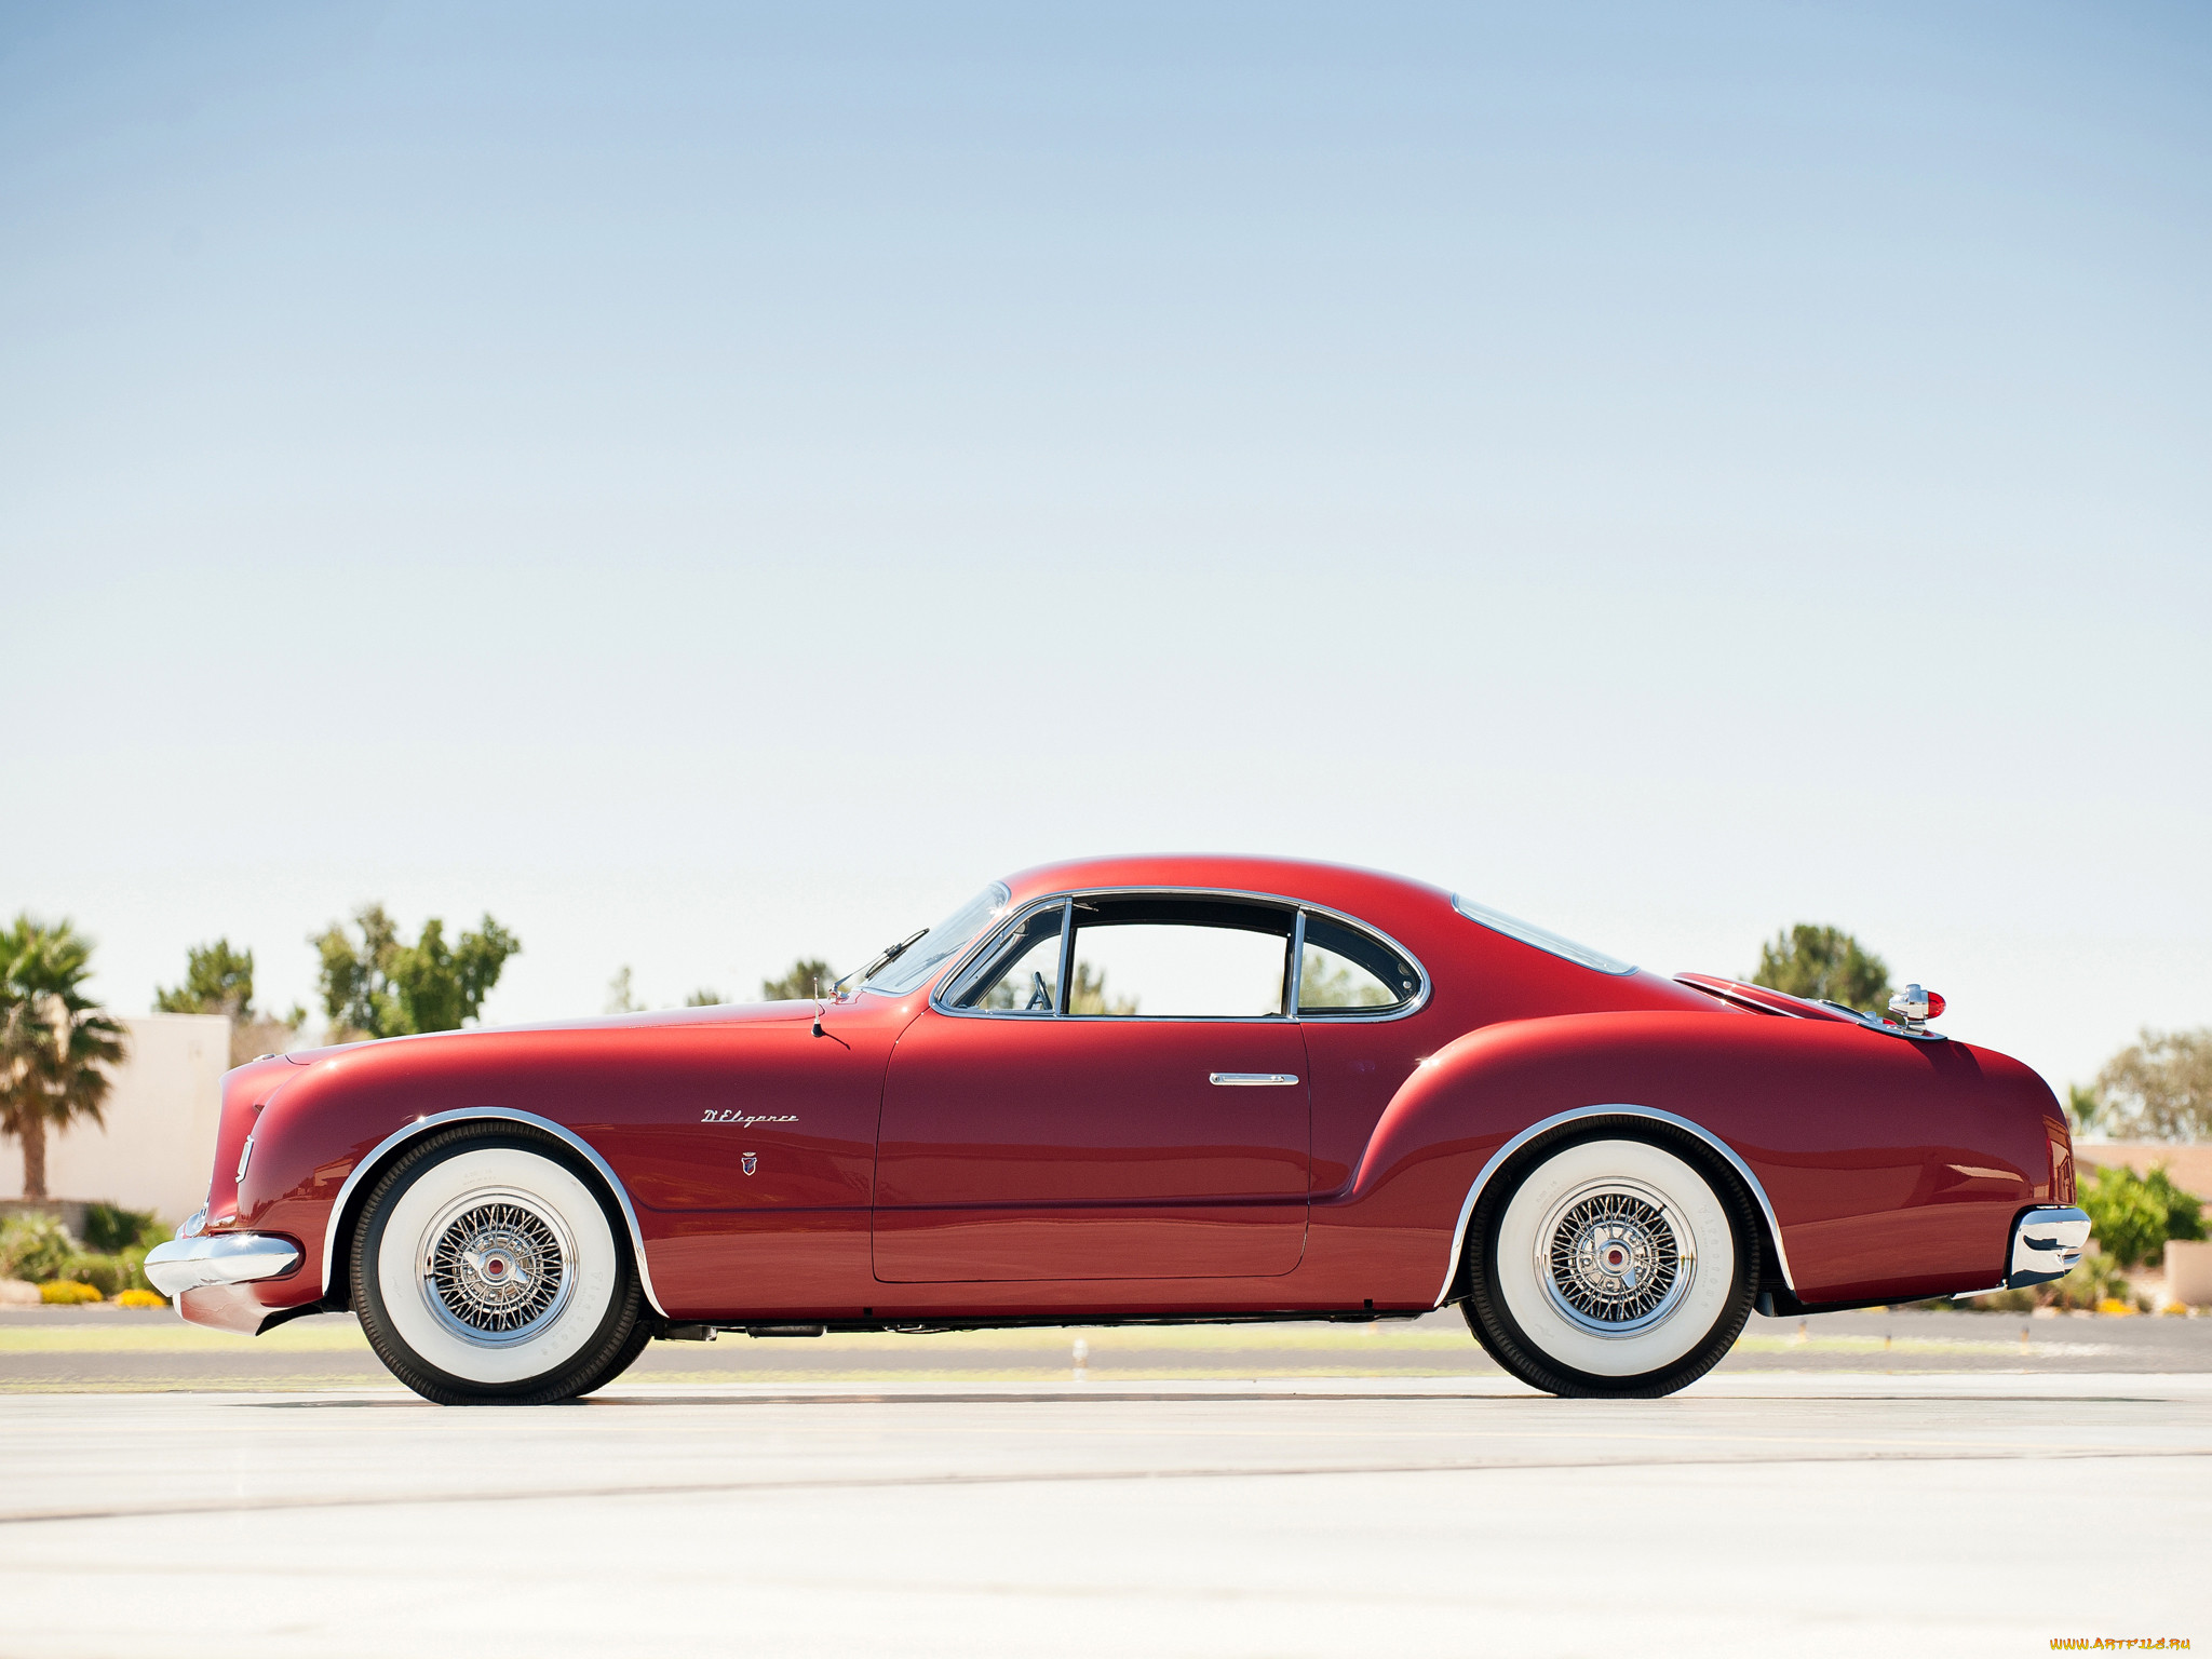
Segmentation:
{"type": "Polygon", "coordinates": [[[891,1053],[876,1279],[1274,1276],[1305,1250],[1312,1113],[1285,907],[1029,907],[891,1053]]]}

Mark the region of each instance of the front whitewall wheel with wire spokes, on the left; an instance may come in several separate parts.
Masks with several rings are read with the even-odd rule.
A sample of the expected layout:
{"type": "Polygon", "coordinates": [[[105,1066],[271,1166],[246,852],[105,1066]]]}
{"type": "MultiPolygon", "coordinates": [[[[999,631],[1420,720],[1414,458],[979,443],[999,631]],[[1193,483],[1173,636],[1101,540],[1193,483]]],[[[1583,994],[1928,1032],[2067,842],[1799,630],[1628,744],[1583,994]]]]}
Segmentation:
{"type": "Polygon", "coordinates": [[[361,1210],[352,1276],[369,1347],[438,1405],[568,1400],[613,1383],[653,1334],[599,1181],[529,1130],[409,1148],[361,1210]]]}

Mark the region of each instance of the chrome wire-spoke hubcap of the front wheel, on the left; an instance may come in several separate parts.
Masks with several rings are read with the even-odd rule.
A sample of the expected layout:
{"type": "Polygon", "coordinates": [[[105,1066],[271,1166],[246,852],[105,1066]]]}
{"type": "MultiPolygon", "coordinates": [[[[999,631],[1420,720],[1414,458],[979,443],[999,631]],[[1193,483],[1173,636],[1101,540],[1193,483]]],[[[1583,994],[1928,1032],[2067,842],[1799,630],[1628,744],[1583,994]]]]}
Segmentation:
{"type": "Polygon", "coordinates": [[[568,1305],[575,1245],[522,1192],[471,1192],[422,1232],[422,1301],[471,1343],[520,1343],[568,1305]]]}

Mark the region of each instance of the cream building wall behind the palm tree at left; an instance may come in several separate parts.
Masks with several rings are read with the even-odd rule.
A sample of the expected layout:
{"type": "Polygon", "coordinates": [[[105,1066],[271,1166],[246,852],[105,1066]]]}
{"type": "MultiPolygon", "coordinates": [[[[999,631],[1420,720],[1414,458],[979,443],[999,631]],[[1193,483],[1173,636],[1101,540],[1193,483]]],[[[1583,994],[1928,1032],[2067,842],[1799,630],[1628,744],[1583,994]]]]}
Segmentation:
{"type": "MultiPolygon", "coordinates": [[[[215,1124],[230,1068],[230,1020],[219,1013],[126,1018],[131,1055],[108,1091],[106,1128],[46,1130],[46,1192],[184,1221],[208,1197],[215,1124]]],[[[0,1197],[22,1192],[22,1148],[0,1141],[0,1197]]]]}

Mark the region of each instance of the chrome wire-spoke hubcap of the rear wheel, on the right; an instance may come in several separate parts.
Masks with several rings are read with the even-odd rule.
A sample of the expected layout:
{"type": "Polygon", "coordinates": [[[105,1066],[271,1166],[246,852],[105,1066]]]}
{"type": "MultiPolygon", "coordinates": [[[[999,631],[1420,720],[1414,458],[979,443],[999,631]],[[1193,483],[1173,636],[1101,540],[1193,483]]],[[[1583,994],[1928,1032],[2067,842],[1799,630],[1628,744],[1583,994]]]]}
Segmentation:
{"type": "Polygon", "coordinates": [[[1568,1192],[1537,1228],[1537,1279],[1553,1307],[1597,1336],[1635,1336],[1681,1303],[1697,1243],[1666,1197],[1635,1181],[1568,1192]]]}

